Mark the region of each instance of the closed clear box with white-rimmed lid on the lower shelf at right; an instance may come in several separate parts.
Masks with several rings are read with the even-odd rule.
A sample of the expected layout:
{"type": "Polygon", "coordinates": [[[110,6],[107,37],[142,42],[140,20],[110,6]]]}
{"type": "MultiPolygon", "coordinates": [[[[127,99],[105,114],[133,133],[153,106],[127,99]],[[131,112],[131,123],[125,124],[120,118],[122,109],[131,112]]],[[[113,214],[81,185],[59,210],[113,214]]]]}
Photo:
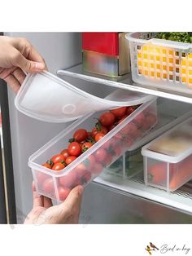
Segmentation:
{"type": "Polygon", "coordinates": [[[172,192],[192,179],[192,118],[142,148],[146,185],[172,192]]]}

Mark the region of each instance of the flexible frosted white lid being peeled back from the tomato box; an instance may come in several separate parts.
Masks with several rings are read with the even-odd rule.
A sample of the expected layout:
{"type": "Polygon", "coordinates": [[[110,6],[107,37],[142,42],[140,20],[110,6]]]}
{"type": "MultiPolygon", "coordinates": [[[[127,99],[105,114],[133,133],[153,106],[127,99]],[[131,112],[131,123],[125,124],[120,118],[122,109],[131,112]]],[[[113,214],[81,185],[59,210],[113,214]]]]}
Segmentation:
{"type": "Polygon", "coordinates": [[[102,99],[43,71],[27,75],[15,98],[15,107],[21,113],[41,121],[67,122],[88,113],[142,104],[153,98],[119,89],[102,99]]]}

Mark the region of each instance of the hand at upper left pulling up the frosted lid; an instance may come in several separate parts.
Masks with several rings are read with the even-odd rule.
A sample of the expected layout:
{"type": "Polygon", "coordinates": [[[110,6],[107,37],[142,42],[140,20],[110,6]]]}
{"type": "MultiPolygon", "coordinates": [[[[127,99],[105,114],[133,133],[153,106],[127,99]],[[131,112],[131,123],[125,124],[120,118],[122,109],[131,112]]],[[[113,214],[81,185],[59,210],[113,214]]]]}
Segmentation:
{"type": "Polygon", "coordinates": [[[0,78],[17,92],[27,73],[45,70],[46,63],[41,55],[25,38],[0,36],[0,78]]]}

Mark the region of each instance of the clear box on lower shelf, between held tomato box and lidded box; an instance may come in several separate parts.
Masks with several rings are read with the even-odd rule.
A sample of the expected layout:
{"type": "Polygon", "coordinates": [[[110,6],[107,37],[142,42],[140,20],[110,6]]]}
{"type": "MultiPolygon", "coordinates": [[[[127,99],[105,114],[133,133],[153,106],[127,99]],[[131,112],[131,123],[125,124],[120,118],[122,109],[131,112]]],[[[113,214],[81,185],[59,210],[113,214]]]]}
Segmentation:
{"type": "Polygon", "coordinates": [[[190,104],[181,104],[173,100],[157,99],[157,124],[147,135],[134,143],[124,155],[108,166],[104,174],[114,174],[123,179],[131,179],[143,173],[142,146],[177,126],[192,116],[190,104]]]}

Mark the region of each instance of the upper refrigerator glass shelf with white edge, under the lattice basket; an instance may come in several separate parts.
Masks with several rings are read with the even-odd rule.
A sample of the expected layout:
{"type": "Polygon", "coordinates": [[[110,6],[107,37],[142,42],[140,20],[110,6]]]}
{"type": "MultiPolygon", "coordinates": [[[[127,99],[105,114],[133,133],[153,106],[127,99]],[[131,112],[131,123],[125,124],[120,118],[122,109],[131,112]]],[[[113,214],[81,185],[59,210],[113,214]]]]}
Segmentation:
{"type": "Polygon", "coordinates": [[[58,70],[57,74],[59,77],[67,76],[79,78],[89,82],[101,83],[106,86],[114,86],[125,90],[142,92],[148,95],[155,95],[166,99],[174,99],[177,101],[192,104],[191,94],[179,93],[173,90],[160,90],[155,87],[151,89],[150,86],[143,86],[141,84],[133,82],[130,74],[117,78],[104,77],[101,75],[96,75],[94,73],[85,72],[82,68],[82,64],[78,64],[76,66],[73,66],[72,68],[68,68],[65,70],[58,70]]]}

